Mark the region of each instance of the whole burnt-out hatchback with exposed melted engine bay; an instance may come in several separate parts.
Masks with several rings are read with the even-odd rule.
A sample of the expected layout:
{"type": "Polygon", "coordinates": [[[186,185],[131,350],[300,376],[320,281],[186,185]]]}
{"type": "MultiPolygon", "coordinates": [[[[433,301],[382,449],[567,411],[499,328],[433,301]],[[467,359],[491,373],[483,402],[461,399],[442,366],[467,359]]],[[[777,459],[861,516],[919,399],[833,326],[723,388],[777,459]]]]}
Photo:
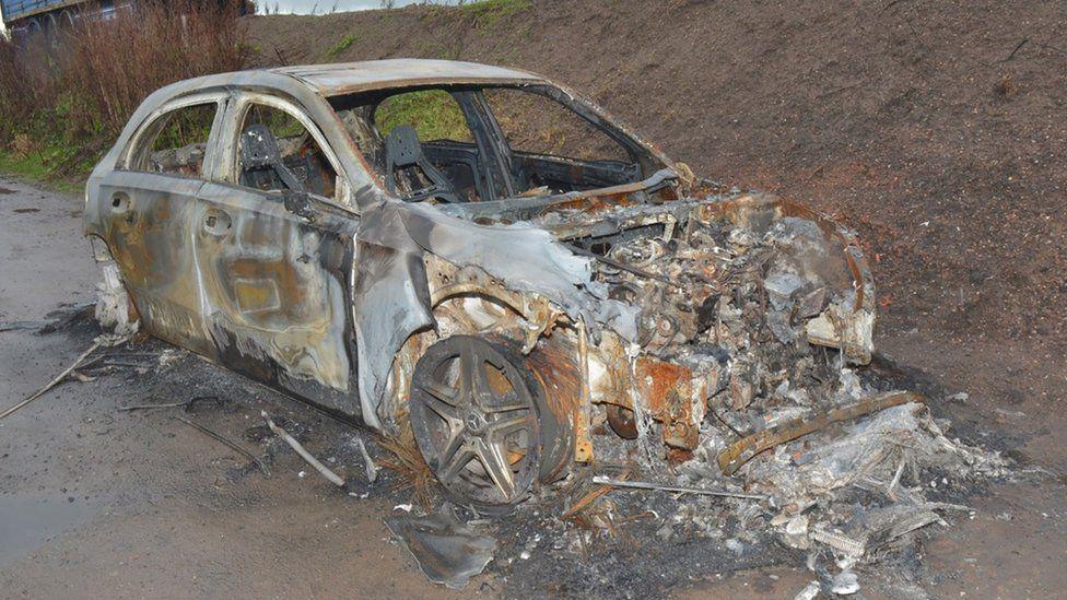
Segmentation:
{"type": "Polygon", "coordinates": [[[871,353],[849,232],[699,179],[513,69],[168,85],[93,172],[84,228],[103,320],[385,435],[410,426],[447,493],[488,511],[594,461],[608,428],[685,460],[716,407],[743,430],[813,348],[871,353]]]}

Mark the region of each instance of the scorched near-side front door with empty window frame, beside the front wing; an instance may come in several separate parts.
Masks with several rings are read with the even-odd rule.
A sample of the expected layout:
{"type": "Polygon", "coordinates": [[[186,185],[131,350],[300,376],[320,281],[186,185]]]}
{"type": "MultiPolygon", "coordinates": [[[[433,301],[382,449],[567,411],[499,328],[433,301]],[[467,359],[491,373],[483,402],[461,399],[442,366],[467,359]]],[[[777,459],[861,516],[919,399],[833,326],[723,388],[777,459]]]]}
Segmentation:
{"type": "Polygon", "coordinates": [[[272,96],[235,98],[223,136],[192,237],[221,361],[357,415],[347,308],[357,217],[335,202],[337,158],[303,110],[272,96]]]}

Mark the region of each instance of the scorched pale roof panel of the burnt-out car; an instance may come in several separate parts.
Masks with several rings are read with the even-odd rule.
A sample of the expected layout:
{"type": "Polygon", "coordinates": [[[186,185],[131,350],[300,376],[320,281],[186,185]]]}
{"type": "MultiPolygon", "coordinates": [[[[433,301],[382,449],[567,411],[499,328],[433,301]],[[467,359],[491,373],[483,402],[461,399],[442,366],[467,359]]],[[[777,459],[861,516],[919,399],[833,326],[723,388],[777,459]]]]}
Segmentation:
{"type": "Polygon", "coordinates": [[[296,78],[323,96],[390,87],[464,83],[537,83],[534,73],[457,60],[400,58],[268,69],[296,78]]]}

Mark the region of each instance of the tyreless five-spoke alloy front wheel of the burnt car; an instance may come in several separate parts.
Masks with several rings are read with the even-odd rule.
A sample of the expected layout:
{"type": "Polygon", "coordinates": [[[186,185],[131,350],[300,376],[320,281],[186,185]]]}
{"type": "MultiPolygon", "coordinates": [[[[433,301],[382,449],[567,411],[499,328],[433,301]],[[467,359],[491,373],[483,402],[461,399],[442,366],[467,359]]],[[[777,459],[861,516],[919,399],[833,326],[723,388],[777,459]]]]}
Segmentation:
{"type": "Polygon", "coordinates": [[[419,450],[455,499],[506,513],[540,470],[541,390],[521,355],[472,336],[426,351],[412,376],[419,450]]]}

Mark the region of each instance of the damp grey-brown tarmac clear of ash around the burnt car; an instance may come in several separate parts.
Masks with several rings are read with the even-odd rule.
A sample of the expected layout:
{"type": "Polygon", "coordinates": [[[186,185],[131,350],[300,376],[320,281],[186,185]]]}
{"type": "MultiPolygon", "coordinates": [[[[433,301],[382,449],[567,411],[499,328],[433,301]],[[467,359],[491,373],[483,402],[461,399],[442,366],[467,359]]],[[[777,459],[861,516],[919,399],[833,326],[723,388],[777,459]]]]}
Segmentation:
{"type": "MultiPolygon", "coordinates": [[[[0,321],[48,318],[93,299],[97,280],[80,202],[0,178],[0,321]]],[[[65,368],[96,332],[85,321],[49,334],[0,332],[0,408],[65,368]]],[[[265,479],[231,450],[173,419],[183,414],[254,449],[266,409],[298,423],[309,449],[359,472],[351,428],[212,365],[143,342],[92,383],[67,383],[0,421],[0,598],[447,598],[506,595],[483,575],[464,592],[430,584],[382,517],[398,498],[344,495],[292,452],[265,479]],[[178,409],[122,405],[185,401],[178,409]]],[[[1048,598],[1067,589],[1063,480],[997,485],[977,513],[927,546],[940,598],[1048,598]]],[[[496,561],[514,557],[497,556],[496,561]]],[[[534,558],[536,560],[536,557],[534,558]]],[[[793,598],[801,568],[705,578],[678,597],[793,598]]],[[[860,581],[861,585],[864,581],[860,581]]],[[[868,597],[879,597],[865,588],[868,597]]]]}

